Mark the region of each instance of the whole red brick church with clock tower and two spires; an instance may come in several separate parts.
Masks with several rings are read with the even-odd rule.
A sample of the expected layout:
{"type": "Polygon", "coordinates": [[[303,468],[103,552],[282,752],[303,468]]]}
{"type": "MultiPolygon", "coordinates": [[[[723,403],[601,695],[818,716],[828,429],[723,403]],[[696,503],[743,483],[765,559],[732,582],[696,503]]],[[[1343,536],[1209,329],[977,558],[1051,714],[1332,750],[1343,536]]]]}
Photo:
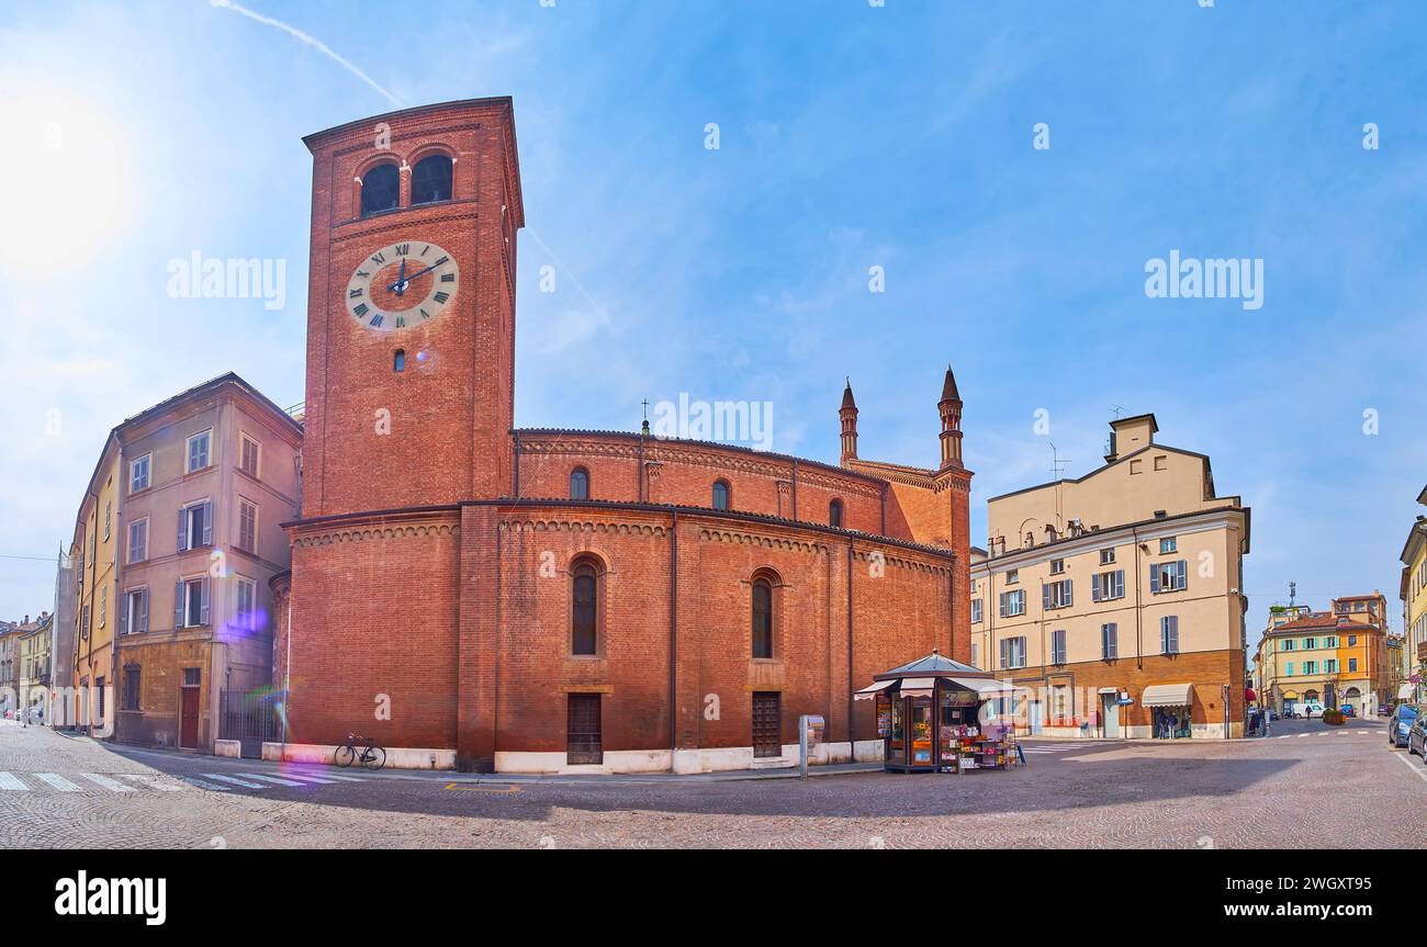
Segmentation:
{"type": "Polygon", "coordinates": [[[838,466],[515,428],[511,100],[305,143],[303,501],[273,580],[288,757],[355,732],[397,766],[748,769],[786,764],[816,713],[825,762],[879,759],[852,693],[932,649],[969,663],[949,368],[936,469],[859,458],[850,385],[838,466]]]}

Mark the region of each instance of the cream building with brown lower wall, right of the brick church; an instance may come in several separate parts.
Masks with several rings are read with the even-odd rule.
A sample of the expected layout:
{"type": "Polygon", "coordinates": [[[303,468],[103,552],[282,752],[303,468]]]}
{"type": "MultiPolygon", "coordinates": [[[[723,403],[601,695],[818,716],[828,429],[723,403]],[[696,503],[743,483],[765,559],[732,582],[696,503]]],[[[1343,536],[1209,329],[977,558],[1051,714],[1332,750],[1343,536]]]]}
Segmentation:
{"type": "Polygon", "coordinates": [[[992,498],[972,562],[973,663],[1047,736],[1240,736],[1250,511],[1209,458],[1110,422],[1104,465],[992,498]]]}

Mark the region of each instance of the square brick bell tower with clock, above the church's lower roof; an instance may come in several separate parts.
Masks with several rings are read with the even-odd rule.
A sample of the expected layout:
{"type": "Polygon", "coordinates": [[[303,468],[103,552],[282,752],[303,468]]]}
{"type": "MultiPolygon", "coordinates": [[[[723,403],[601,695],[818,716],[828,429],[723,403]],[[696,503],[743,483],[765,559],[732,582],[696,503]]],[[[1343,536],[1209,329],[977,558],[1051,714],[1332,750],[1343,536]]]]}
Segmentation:
{"type": "Polygon", "coordinates": [[[525,224],[511,100],[407,108],[303,141],[303,516],[509,493],[525,224]]]}

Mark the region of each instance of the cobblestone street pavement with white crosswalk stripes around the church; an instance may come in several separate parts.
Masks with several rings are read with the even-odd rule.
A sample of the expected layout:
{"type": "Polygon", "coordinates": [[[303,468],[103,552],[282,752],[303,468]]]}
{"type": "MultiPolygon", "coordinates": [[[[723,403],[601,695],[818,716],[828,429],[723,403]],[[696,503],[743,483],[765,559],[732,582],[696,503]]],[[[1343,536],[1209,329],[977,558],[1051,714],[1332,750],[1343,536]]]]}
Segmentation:
{"type": "Polygon", "coordinates": [[[1026,743],[966,776],[502,782],[0,727],[0,847],[1423,847],[1427,767],[1381,722],[1253,740],[1026,743]],[[338,779],[341,777],[341,779],[338,779]]]}

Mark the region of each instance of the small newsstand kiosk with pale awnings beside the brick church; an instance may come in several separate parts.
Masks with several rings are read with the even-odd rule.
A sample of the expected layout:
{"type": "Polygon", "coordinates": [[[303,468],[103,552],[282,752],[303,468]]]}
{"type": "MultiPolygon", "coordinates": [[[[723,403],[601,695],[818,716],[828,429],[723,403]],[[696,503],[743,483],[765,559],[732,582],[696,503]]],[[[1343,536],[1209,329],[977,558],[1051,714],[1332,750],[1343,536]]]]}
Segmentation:
{"type": "Polygon", "coordinates": [[[1009,683],[933,650],[878,675],[853,697],[876,700],[885,769],[965,773],[1016,763],[1009,720],[996,723],[996,715],[983,712],[987,702],[1009,699],[1013,692],[1009,683]]]}

